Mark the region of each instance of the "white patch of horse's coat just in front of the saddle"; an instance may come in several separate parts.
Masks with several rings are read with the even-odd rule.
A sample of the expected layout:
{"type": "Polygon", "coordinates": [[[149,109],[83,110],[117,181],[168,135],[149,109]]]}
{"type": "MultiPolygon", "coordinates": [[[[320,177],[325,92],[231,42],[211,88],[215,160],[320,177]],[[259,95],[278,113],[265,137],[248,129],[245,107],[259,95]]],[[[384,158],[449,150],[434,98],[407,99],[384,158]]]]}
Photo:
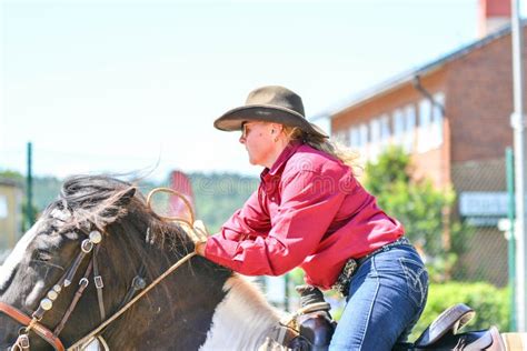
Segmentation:
{"type": "Polygon", "coordinates": [[[235,274],[223,285],[228,291],[218,304],[203,350],[257,350],[280,315],[261,292],[242,277],[235,274]]]}

